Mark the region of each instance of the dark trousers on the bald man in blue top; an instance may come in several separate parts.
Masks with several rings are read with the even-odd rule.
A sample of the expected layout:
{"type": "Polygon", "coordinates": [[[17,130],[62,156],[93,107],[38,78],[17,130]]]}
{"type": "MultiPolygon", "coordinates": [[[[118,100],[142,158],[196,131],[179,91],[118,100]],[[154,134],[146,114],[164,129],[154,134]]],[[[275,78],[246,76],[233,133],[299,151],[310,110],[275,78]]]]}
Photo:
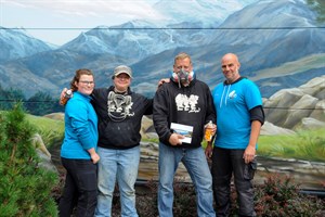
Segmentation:
{"type": "Polygon", "coordinates": [[[253,209],[253,188],[251,183],[256,162],[253,166],[251,166],[251,164],[245,164],[243,158],[244,151],[245,150],[220,148],[213,149],[211,173],[217,216],[230,216],[232,174],[234,174],[234,182],[239,204],[238,215],[256,216],[253,209]]]}

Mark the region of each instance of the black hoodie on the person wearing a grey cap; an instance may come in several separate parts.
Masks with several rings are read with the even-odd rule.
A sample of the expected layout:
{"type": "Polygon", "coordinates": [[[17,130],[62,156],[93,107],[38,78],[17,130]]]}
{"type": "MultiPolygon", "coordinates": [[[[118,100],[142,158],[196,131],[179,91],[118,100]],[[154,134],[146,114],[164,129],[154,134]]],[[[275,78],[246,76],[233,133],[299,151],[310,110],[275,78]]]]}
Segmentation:
{"type": "Polygon", "coordinates": [[[92,99],[99,117],[99,146],[122,150],[140,144],[141,120],[153,113],[152,99],[130,89],[126,94],[116,94],[113,86],[94,89],[92,99]]]}

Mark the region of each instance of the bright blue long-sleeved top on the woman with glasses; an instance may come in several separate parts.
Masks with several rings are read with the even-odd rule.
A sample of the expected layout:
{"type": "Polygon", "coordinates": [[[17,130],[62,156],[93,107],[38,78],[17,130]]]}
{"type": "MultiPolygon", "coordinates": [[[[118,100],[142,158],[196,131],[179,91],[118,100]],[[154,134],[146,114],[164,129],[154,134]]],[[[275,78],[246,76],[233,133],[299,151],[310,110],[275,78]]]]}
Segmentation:
{"type": "Polygon", "coordinates": [[[98,145],[98,116],[90,103],[91,98],[74,92],[65,106],[65,135],[61,156],[90,159],[87,150],[98,145]]]}

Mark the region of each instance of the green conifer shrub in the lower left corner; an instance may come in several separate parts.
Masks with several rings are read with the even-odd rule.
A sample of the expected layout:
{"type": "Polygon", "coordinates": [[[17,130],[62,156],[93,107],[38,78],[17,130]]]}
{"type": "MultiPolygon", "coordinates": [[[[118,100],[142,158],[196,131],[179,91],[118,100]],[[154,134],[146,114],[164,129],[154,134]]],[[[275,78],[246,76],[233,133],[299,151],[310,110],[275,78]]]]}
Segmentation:
{"type": "Polygon", "coordinates": [[[35,128],[22,104],[0,114],[0,214],[5,216],[56,216],[50,196],[57,175],[39,167],[32,145],[35,128]]]}

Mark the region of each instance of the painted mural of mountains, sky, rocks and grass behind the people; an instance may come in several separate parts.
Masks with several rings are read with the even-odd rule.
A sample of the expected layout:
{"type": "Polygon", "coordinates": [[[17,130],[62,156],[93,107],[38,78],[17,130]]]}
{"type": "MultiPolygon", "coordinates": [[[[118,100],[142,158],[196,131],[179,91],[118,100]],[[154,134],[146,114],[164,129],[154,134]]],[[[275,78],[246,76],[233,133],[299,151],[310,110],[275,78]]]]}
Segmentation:
{"type": "MultiPolygon", "coordinates": [[[[153,97],[158,80],[171,76],[173,56],[184,51],[197,78],[212,89],[223,81],[221,56],[233,52],[240,74],[263,97],[256,181],[280,173],[304,189],[325,191],[323,1],[44,2],[1,1],[1,88],[22,89],[27,99],[40,91],[58,97],[77,68],[91,68],[96,87],[107,87],[113,68],[126,64],[133,69],[132,90],[153,97]],[[25,23],[28,17],[44,21],[25,23]]],[[[150,117],[142,135],[139,178],[156,179],[150,117]]],[[[183,167],[178,175],[188,179],[183,167]]]]}

